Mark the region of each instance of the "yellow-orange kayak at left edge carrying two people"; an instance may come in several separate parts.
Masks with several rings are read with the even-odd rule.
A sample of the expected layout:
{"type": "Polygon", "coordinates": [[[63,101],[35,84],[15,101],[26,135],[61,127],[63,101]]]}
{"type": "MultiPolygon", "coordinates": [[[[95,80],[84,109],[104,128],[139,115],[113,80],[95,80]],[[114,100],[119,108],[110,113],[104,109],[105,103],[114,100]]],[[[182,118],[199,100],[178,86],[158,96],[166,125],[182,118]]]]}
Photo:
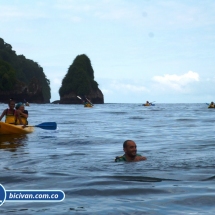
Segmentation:
{"type": "Polygon", "coordinates": [[[0,134],[28,134],[33,131],[33,126],[22,128],[22,125],[13,125],[5,122],[0,122],[0,134]]]}

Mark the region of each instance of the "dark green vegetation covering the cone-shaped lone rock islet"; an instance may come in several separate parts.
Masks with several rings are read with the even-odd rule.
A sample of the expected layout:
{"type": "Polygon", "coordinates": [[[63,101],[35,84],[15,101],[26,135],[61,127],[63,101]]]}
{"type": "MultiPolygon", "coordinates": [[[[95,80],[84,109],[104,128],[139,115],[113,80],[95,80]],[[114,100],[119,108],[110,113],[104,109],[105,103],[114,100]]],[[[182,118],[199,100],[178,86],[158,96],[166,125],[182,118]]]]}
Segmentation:
{"type": "Polygon", "coordinates": [[[98,83],[94,80],[94,71],[90,59],[85,55],[78,55],[65,75],[59,94],[63,97],[71,92],[76,95],[88,95],[91,90],[97,90],[98,83]]]}

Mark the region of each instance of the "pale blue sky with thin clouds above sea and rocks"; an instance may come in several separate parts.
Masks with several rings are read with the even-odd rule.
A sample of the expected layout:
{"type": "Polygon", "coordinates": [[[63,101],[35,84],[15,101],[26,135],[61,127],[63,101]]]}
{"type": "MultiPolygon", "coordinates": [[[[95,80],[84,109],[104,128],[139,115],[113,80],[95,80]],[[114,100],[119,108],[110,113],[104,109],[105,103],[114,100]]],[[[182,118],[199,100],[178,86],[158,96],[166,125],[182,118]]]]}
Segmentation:
{"type": "Polygon", "coordinates": [[[51,102],[81,54],[105,103],[215,101],[214,0],[0,0],[0,26],[43,68],[51,102]]]}

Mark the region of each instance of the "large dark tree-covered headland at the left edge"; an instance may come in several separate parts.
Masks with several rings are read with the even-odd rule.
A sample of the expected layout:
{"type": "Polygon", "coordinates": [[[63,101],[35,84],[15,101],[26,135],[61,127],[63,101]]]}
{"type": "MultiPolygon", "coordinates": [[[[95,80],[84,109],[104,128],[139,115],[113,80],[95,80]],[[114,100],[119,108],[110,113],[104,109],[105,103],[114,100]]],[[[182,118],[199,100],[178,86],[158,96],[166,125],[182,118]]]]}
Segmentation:
{"type": "Polygon", "coordinates": [[[0,102],[50,103],[50,82],[43,68],[33,60],[17,55],[0,38],[0,102]]]}

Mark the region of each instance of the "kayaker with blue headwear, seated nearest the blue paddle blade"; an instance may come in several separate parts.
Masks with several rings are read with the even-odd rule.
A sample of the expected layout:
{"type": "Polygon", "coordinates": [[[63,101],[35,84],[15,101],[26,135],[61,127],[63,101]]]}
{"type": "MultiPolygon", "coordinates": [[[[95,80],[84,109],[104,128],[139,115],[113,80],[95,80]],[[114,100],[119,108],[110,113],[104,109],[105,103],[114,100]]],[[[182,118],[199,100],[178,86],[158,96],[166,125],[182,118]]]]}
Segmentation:
{"type": "Polygon", "coordinates": [[[25,106],[22,102],[19,102],[16,105],[16,118],[15,118],[15,124],[16,125],[28,125],[28,111],[25,110],[25,106]]]}

